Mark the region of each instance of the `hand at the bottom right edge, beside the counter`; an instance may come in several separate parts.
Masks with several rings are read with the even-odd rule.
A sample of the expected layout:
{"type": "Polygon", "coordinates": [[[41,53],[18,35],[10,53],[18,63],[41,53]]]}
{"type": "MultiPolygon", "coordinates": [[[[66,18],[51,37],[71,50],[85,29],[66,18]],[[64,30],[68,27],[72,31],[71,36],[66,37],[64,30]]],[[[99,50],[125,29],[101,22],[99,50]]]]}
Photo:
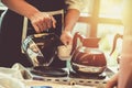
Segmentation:
{"type": "Polygon", "coordinates": [[[118,86],[118,74],[116,74],[110,80],[108,80],[106,88],[114,88],[118,86]]]}

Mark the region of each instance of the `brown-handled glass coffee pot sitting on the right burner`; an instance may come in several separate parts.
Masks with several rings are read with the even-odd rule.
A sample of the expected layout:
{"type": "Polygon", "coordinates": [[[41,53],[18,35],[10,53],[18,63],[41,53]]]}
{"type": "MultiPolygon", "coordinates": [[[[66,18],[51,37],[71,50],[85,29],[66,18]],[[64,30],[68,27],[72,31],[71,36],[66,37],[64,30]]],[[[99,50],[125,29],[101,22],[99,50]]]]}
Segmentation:
{"type": "Polygon", "coordinates": [[[103,73],[107,61],[103,52],[99,50],[99,37],[85,37],[79,32],[75,33],[70,64],[76,73],[95,75],[103,73]]]}

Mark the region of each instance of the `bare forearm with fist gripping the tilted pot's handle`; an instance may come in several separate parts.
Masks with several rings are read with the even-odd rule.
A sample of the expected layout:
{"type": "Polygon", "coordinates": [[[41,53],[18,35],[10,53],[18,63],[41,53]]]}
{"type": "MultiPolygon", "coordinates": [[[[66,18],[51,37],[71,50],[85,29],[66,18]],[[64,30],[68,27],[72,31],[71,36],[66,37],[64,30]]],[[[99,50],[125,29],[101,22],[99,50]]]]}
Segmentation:
{"type": "Polygon", "coordinates": [[[1,0],[10,10],[26,16],[31,20],[37,33],[46,29],[55,28],[56,21],[47,13],[42,13],[33,6],[29,4],[25,0],[1,0]],[[20,6],[21,4],[21,6],[20,6]]]}

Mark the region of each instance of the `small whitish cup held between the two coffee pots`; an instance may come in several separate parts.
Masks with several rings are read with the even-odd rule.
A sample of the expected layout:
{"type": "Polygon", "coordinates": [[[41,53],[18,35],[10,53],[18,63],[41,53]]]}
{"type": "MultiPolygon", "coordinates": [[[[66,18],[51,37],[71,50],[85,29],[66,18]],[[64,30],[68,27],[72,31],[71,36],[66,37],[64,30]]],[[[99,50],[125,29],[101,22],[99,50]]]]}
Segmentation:
{"type": "Polygon", "coordinates": [[[67,61],[70,58],[72,45],[61,45],[57,48],[59,59],[67,61]]]}

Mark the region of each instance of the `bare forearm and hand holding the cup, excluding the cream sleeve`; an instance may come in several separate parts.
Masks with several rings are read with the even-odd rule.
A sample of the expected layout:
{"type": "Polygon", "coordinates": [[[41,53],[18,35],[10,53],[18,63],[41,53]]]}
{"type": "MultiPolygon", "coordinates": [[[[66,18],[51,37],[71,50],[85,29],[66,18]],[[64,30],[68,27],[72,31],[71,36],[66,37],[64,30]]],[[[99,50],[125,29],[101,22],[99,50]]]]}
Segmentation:
{"type": "Polygon", "coordinates": [[[66,16],[65,16],[65,22],[64,22],[64,30],[61,36],[62,42],[65,45],[72,45],[73,43],[73,35],[72,31],[78,21],[79,18],[79,11],[70,9],[67,11],[66,16]]]}

